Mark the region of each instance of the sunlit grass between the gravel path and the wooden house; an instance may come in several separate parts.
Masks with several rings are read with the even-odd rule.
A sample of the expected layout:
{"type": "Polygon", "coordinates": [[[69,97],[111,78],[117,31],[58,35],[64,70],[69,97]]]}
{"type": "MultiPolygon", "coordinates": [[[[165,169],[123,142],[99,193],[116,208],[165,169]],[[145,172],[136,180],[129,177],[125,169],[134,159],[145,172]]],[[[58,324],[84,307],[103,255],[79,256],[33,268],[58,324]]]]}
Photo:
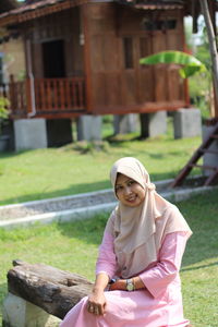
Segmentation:
{"type": "Polygon", "coordinates": [[[201,143],[201,137],[173,140],[171,126],[165,136],[146,141],[137,136],[108,137],[97,149],[83,142],[0,154],[0,205],[110,187],[109,169],[123,156],[142,160],[154,181],[173,178],[201,143]]]}

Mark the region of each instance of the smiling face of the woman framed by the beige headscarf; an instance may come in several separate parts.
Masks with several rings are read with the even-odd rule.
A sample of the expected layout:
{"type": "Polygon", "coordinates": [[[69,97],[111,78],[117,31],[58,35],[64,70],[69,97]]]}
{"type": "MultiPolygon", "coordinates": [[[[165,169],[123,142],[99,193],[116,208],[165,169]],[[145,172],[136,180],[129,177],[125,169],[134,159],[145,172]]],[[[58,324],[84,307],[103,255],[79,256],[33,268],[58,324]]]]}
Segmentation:
{"type": "Polygon", "coordinates": [[[119,173],[116,181],[116,194],[118,199],[125,206],[136,207],[145,198],[145,190],[133,179],[119,173]]]}

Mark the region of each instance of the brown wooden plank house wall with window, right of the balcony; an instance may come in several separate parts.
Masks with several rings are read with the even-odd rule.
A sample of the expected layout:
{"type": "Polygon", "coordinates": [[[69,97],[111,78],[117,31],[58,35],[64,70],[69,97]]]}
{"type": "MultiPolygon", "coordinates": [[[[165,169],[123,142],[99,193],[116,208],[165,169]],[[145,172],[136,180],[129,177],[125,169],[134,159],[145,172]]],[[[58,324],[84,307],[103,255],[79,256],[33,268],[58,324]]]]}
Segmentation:
{"type": "Polygon", "coordinates": [[[182,22],[180,11],[169,14],[114,3],[88,4],[94,112],[143,112],[146,111],[145,102],[183,101],[184,83],[179,77],[178,68],[138,63],[140,58],[157,51],[183,50],[182,22]],[[159,21],[165,21],[166,15],[168,20],[175,20],[177,28],[146,31],[143,22],[157,20],[157,15],[159,21]],[[132,48],[132,57],[129,53],[126,58],[125,48],[132,48]]]}

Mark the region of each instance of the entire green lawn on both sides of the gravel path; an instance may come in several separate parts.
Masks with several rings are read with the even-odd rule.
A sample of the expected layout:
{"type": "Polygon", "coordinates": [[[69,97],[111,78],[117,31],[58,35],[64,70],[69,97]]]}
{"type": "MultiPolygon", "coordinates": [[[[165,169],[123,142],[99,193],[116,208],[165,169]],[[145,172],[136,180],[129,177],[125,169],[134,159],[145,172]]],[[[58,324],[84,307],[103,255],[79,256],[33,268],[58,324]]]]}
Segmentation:
{"type": "MultiPolygon", "coordinates": [[[[201,137],[174,141],[172,131],[146,141],[134,136],[104,141],[101,150],[93,144],[74,143],[62,148],[0,154],[0,205],[110,187],[109,169],[123,156],[138,158],[153,181],[173,178],[201,143],[201,137]]],[[[214,191],[179,204],[194,231],[181,277],[185,315],[195,327],[218,326],[217,196],[218,191],[214,191]]],[[[106,219],[105,215],[72,223],[0,230],[1,303],[7,293],[7,271],[14,258],[94,279],[106,219]]]]}

